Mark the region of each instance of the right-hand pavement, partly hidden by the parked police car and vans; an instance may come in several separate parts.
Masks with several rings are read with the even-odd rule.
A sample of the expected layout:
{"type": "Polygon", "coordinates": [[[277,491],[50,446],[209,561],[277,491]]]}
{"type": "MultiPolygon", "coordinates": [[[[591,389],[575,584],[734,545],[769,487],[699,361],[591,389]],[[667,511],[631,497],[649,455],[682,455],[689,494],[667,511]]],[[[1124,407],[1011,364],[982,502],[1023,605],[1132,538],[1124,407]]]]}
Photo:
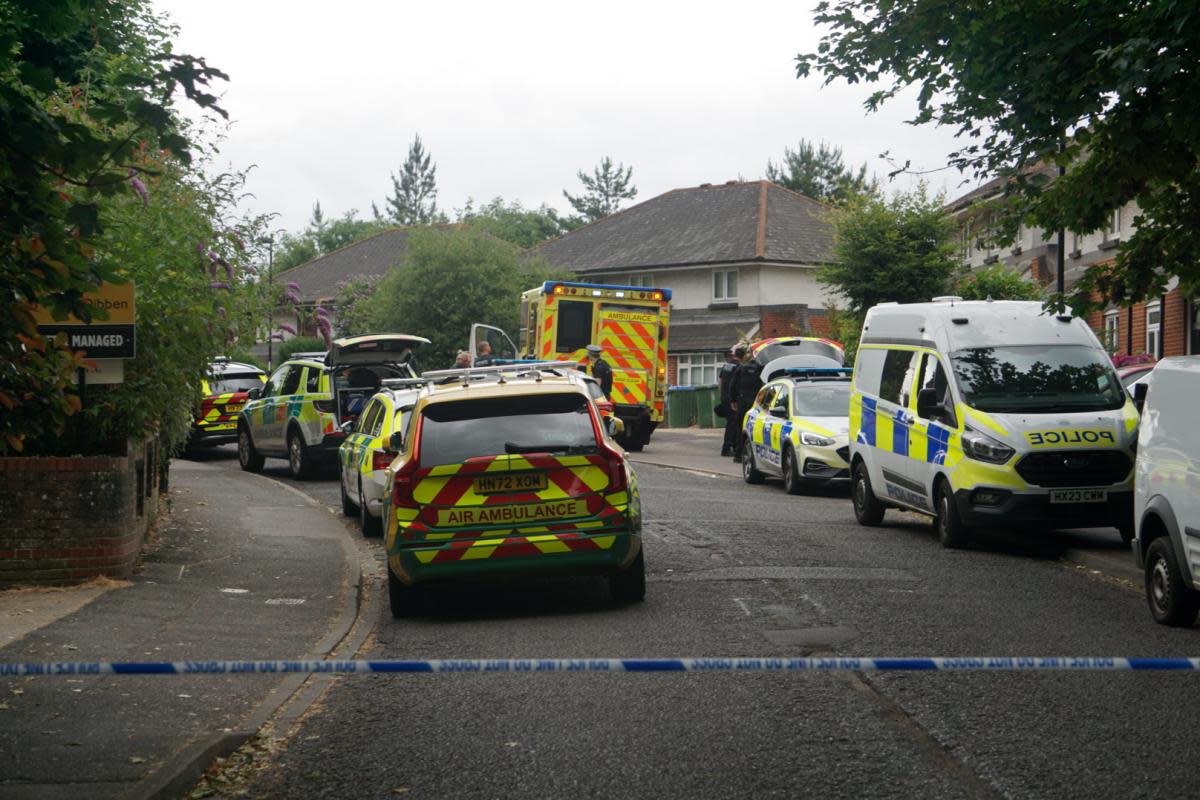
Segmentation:
{"type": "MultiPolygon", "coordinates": [[[[722,428],[659,428],[654,432],[646,450],[630,453],[635,464],[653,464],[670,467],[703,475],[721,475],[742,477],[742,465],[732,458],[720,456],[722,428]]],[[[769,479],[768,479],[769,480],[769,479]]],[[[815,494],[828,497],[840,494],[836,487],[818,489],[815,494]]],[[[846,504],[850,507],[848,487],[846,504]]],[[[912,521],[924,521],[916,513],[889,512],[912,521]]],[[[1020,539],[1020,531],[989,531],[992,539],[997,535],[1007,539],[1020,539]]],[[[1138,569],[1133,553],[1121,543],[1115,529],[1081,529],[1055,531],[1052,541],[1040,542],[1046,548],[1061,549],[1061,558],[1067,564],[1086,570],[1096,576],[1104,576],[1132,588],[1141,590],[1142,573],[1138,569]]],[[[1034,542],[1034,546],[1038,543],[1034,542]]]]}

